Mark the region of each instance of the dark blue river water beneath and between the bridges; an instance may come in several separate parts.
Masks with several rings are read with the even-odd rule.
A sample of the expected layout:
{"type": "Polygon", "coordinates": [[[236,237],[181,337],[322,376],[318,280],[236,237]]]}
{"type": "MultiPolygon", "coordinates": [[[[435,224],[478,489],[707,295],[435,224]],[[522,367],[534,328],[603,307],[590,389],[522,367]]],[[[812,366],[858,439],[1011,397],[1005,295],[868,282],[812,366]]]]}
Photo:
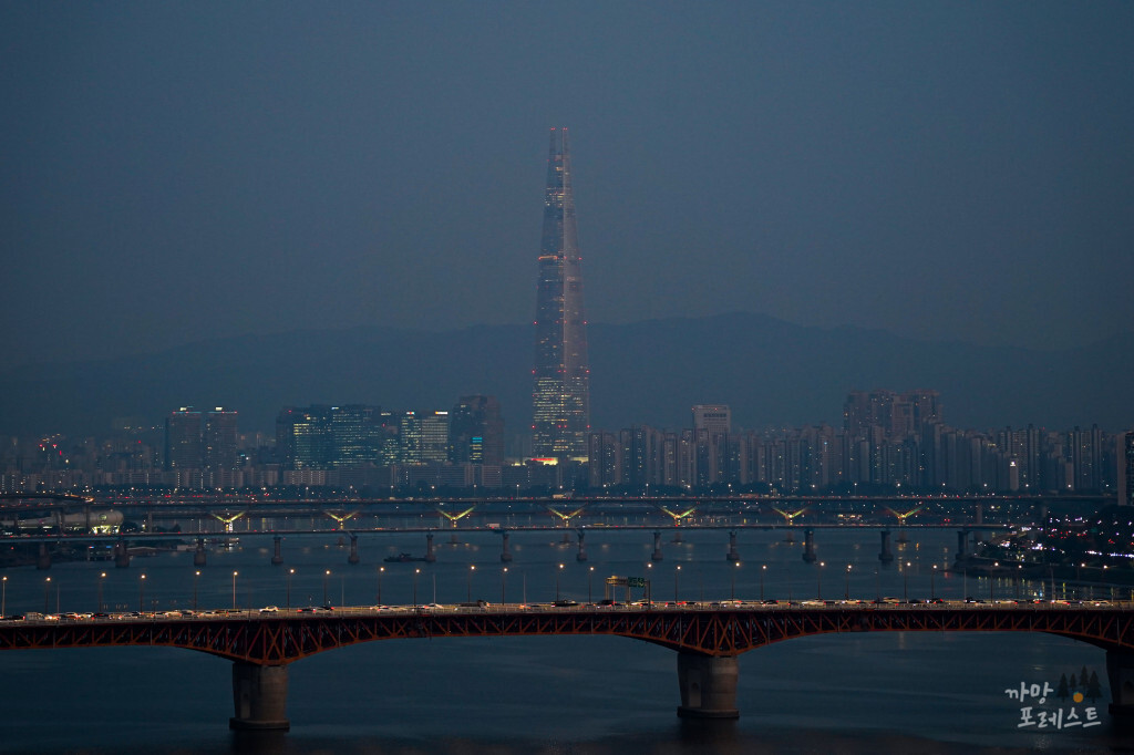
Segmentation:
{"type": "MultiPolygon", "coordinates": [[[[568,542],[556,532],[513,532],[507,572],[500,535],[491,532],[438,532],[435,563],[383,561],[424,553],[424,534],[363,535],[357,566],[347,565],[337,534],[288,536],[284,566],[270,563],[271,537],[245,534],[230,550],[210,552],[201,569],[192,552],[135,558],[126,569],[110,562],[9,569],[5,603],[8,613],[94,611],[100,599],[104,608],[128,610],[192,608],[194,600],[198,608],[234,601],[282,608],[319,604],[324,595],[335,604],[372,604],[380,592],[391,604],[540,602],[557,592],[583,602],[601,597],[610,575],[648,578],[654,600],[987,599],[1049,595],[1052,587],[949,572],[951,531],[911,531],[908,543],[894,545],[896,561],[881,568],[877,531],[818,531],[822,566],[805,563],[802,538],[785,542],[784,531],[741,531],[739,566],[725,559],[726,531],[686,529],[674,542],[675,531],[665,529],[658,562],[652,531],[590,531],[585,562],[576,561],[568,532],[568,542]]],[[[1072,589],[1055,588],[1057,596],[1072,589]]],[[[1109,592],[1094,588],[1095,596],[1109,592]]],[[[741,719],[706,723],[676,716],[674,652],[618,637],[412,639],[322,653],[290,665],[288,733],[229,731],[231,664],[192,651],[12,651],[0,653],[0,750],[15,753],[1134,749],[1134,737],[1114,728],[1106,712],[1105,653],[1042,634],[879,633],[779,643],[741,656],[741,719]],[[1061,676],[1077,678],[1084,669],[1099,678],[1098,699],[1075,704],[1052,692],[1043,704],[1021,703],[1006,694],[1022,682],[1055,690],[1061,676]],[[1025,706],[1034,723],[1022,727],[1025,706]],[[1084,723],[1094,709],[1101,723],[1063,726],[1073,707],[1084,723]],[[1059,710],[1060,726],[1039,726],[1041,711],[1059,710]]]]}

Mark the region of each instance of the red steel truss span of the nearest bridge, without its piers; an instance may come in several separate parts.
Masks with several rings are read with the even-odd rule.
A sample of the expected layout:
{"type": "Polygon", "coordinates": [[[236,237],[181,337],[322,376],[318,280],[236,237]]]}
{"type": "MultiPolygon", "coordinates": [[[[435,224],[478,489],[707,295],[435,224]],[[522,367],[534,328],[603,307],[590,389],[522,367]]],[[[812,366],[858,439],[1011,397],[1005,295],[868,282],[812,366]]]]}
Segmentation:
{"type": "Polygon", "coordinates": [[[0,650],[159,645],[281,665],[381,639],[611,635],[705,656],[777,642],[863,631],[1041,631],[1103,650],[1134,650],[1129,608],[814,606],[718,609],[345,610],[0,625],[0,650]]]}

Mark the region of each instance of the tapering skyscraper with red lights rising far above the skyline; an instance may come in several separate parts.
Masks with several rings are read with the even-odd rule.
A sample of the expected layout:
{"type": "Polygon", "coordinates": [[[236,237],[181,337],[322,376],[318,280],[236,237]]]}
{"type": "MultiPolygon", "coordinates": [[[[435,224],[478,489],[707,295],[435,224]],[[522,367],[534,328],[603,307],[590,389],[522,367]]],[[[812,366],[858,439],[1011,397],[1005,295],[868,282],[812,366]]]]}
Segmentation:
{"type": "Polygon", "coordinates": [[[539,262],[532,451],[538,458],[585,459],[591,429],[591,370],[566,128],[551,129],[539,262]]]}

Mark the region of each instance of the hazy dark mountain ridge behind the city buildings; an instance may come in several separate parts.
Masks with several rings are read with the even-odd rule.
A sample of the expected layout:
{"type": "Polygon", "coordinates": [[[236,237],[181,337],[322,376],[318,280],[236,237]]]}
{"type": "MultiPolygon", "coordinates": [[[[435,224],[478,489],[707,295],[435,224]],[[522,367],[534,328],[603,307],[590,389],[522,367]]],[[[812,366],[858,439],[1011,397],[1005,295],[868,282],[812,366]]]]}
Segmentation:
{"type": "MultiPolygon", "coordinates": [[[[158,423],[180,406],[225,406],[272,431],[288,405],[446,409],[490,393],[507,432],[531,417],[530,325],[445,332],[353,328],[202,341],[159,354],[0,373],[0,433],[102,434],[113,417],[158,423]]],[[[945,421],[990,429],[1134,427],[1134,333],[1039,351],[928,342],[767,315],[592,324],[592,426],[684,427],[694,404],[728,404],[737,427],[841,425],[848,391],[941,392],[945,421]]]]}

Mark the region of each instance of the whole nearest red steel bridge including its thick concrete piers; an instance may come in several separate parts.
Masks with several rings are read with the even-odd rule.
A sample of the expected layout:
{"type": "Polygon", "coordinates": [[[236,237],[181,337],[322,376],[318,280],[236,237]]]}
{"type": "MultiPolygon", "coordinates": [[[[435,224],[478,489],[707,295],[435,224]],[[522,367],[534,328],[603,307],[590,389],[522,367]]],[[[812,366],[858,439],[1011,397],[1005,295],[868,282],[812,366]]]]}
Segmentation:
{"type": "Polygon", "coordinates": [[[287,667],[379,639],[612,635],[677,651],[682,705],[692,718],[736,718],[737,656],[771,643],[861,631],[1042,631],[1107,653],[1110,712],[1134,716],[1134,603],[1068,605],[737,604],[383,606],[314,611],[5,620],[0,650],[161,645],[234,661],[237,729],[287,729],[287,667]]]}

